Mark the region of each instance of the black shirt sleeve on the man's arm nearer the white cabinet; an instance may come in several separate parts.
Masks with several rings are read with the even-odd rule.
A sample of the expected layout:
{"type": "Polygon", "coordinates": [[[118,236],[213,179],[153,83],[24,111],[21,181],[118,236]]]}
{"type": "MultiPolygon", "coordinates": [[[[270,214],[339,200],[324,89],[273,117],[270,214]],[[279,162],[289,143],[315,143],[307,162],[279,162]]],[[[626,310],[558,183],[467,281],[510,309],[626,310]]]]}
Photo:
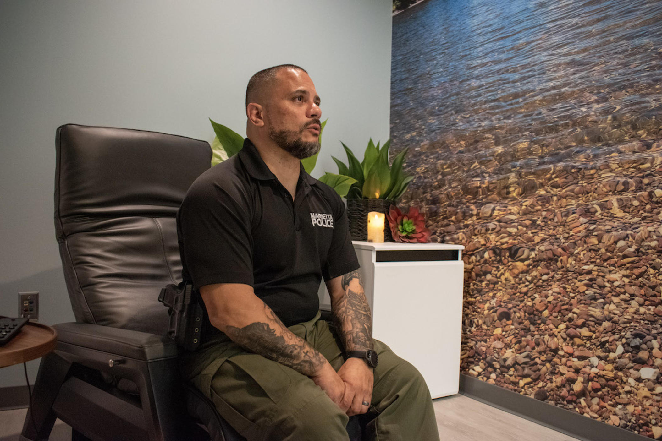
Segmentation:
{"type": "Polygon", "coordinates": [[[345,204],[334,190],[331,190],[331,192],[330,202],[334,213],[334,228],[331,247],[324,268],[322,268],[322,276],[325,282],[361,267],[358,259],[356,259],[354,245],[352,245],[350,223],[347,218],[345,204]]]}

